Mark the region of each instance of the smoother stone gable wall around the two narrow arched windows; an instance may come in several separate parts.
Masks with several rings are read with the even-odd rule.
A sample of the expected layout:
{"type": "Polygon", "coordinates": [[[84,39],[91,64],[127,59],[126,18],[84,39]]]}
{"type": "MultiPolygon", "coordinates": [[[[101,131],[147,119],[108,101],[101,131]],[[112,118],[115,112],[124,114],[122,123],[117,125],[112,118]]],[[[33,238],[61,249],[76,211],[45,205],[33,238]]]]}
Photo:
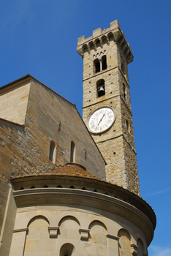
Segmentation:
{"type": "Polygon", "coordinates": [[[71,141],[74,141],[75,162],[84,165],[86,170],[95,176],[105,178],[104,159],[77,113],[75,105],[35,80],[31,82],[26,127],[34,143],[43,151],[37,158],[41,159],[44,169],[54,169],[55,165],[64,166],[66,162],[70,162],[71,141]],[[53,168],[49,159],[51,140],[56,144],[56,163],[53,164],[53,168]]]}

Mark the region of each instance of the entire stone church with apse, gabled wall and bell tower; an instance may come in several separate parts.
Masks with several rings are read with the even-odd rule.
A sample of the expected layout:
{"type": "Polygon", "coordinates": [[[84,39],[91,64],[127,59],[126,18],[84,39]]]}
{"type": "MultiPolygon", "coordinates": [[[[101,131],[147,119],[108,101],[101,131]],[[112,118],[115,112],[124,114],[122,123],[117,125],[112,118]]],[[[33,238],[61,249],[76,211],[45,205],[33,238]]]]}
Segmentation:
{"type": "Polygon", "coordinates": [[[140,197],[131,48],[115,20],[77,52],[83,119],[31,75],[0,88],[0,255],[148,255],[156,217],[140,197]]]}

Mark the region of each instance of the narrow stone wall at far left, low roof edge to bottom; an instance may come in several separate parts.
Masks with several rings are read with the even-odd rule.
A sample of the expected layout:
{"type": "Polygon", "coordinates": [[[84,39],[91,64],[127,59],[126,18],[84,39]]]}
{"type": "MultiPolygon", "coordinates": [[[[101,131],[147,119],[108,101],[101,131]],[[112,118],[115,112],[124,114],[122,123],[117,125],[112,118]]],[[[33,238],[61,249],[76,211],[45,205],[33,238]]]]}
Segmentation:
{"type": "Polygon", "coordinates": [[[24,136],[22,126],[0,119],[0,255],[9,255],[16,214],[9,177],[26,165],[22,156],[24,136]]]}

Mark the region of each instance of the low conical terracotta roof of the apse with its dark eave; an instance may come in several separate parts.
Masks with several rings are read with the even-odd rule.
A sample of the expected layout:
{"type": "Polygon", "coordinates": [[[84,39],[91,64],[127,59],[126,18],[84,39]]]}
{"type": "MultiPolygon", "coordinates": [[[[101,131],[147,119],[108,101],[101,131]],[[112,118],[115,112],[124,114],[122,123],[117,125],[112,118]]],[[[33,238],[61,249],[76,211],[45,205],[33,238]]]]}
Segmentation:
{"type": "MultiPolygon", "coordinates": [[[[135,195],[129,190],[123,189],[123,187],[118,187],[115,184],[110,184],[100,178],[97,178],[93,174],[88,173],[88,171],[86,171],[83,166],[76,163],[67,164],[64,167],[58,167],[55,170],[50,170],[49,172],[45,173],[34,173],[34,175],[32,176],[20,176],[11,178],[11,181],[14,189],[17,190],[17,192],[20,191],[20,193],[22,191],[26,192],[26,189],[28,189],[28,187],[31,188],[32,185],[35,185],[35,187],[37,187],[35,189],[46,189],[46,191],[48,191],[47,189],[57,189],[58,187],[56,187],[56,184],[62,185],[60,189],[69,189],[70,185],[75,186],[76,183],[80,183],[80,188],[79,186],[77,186],[77,189],[81,189],[81,187],[86,187],[85,190],[88,190],[91,187],[93,188],[93,190],[96,189],[97,191],[99,191],[99,193],[101,193],[100,195],[104,194],[104,192],[107,192],[107,196],[109,195],[111,197],[115,197],[116,199],[118,198],[117,200],[123,200],[126,203],[132,204],[132,206],[138,208],[149,219],[151,219],[153,227],[156,226],[155,214],[153,213],[151,206],[149,206],[148,203],[145,202],[145,200],[142,200],[141,197],[135,195]],[[69,183],[69,181],[71,182],[69,183]],[[42,186],[45,184],[47,184],[47,187],[42,186]],[[65,184],[67,184],[67,186],[65,186],[65,184]],[[20,190],[20,187],[26,189],[20,190]]],[[[34,193],[34,189],[31,189],[31,191],[34,193]]],[[[90,189],[90,191],[92,191],[92,189],[90,189]]],[[[97,193],[96,195],[99,194],[97,193]]]]}

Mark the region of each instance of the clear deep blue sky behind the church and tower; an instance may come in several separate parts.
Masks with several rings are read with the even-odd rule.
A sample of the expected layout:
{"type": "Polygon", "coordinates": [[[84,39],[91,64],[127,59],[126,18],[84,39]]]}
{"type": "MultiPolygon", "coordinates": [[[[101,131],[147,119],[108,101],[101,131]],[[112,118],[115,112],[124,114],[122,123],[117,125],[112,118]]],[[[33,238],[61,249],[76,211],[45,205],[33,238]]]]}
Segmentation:
{"type": "Polygon", "coordinates": [[[0,86],[31,74],[82,114],[83,61],[77,38],[118,19],[129,64],[142,197],[156,212],[149,256],[171,255],[170,0],[7,0],[0,9],[0,86]]]}

